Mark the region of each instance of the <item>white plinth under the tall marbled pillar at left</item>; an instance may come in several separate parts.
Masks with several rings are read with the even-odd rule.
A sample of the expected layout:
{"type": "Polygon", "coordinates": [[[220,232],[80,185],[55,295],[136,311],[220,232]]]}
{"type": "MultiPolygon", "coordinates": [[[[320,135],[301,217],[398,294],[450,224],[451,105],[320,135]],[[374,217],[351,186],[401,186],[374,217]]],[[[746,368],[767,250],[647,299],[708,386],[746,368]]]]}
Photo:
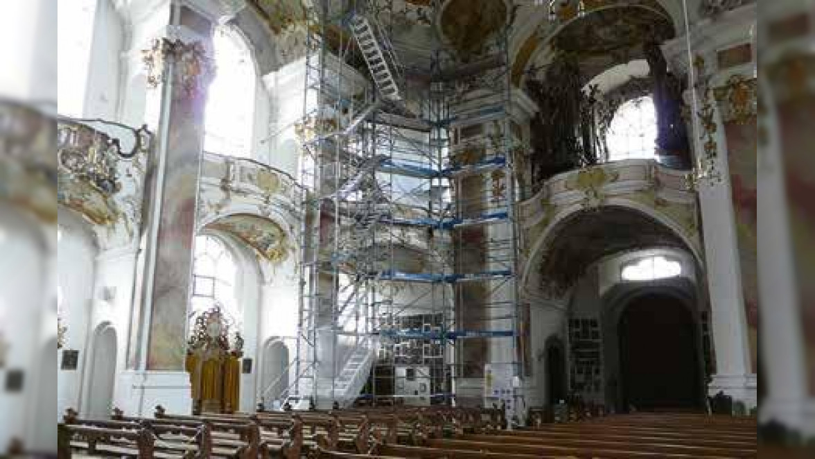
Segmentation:
{"type": "Polygon", "coordinates": [[[133,371],[121,373],[121,399],[114,402],[127,415],[152,417],[156,405],[170,414],[192,413],[190,376],[183,371],[133,371]]]}

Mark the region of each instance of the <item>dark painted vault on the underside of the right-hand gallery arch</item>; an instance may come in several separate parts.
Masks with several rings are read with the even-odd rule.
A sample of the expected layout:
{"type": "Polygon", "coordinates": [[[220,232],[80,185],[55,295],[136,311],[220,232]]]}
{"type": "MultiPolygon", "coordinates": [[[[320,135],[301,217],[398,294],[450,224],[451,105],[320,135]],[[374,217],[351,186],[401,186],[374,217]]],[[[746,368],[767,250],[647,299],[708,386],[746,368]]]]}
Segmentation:
{"type": "MultiPolygon", "coordinates": [[[[558,224],[544,241],[538,270],[542,287],[560,294],[601,258],[634,249],[688,250],[670,228],[637,210],[607,206],[586,210],[558,224]]],[[[688,250],[689,251],[689,250],[688,250]]]]}

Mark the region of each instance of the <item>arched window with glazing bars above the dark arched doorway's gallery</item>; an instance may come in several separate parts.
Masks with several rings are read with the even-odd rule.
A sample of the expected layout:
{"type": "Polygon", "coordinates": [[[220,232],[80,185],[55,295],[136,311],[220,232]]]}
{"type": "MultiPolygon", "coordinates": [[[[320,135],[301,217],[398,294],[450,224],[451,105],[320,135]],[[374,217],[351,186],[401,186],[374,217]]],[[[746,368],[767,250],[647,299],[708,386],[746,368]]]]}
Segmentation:
{"type": "Polygon", "coordinates": [[[606,144],[609,161],[654,158],[657,115],[650,95],[631,99],[617,109],[611,120],[606,144]]]}

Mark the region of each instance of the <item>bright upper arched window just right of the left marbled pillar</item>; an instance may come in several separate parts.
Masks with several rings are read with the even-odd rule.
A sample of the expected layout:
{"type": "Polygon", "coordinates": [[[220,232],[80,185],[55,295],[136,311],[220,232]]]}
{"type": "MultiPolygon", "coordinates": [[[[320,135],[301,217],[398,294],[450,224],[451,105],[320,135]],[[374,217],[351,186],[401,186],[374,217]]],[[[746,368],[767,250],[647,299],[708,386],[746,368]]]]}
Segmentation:
{"type": "Polygon", "coordinates": [[[215,29],[215,77],[209,86],[204,150],[230,157],[252,156],[257,73],[245,38],[229,26],[215,29]]]}

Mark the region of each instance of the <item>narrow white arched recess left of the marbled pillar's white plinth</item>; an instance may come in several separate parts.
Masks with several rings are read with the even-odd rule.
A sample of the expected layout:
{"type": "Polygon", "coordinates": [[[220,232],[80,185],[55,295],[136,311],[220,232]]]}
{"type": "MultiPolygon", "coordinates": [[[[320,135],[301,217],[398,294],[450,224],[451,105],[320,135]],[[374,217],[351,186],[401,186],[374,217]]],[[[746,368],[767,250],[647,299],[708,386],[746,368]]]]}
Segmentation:
{"type": "Polygon", "coordinates": [[[116,351],[116,330],[110,325],[100,326],[95,333],[90,365],[88,417],[104,419],[110,416],[116,381],[116,351]]]}

